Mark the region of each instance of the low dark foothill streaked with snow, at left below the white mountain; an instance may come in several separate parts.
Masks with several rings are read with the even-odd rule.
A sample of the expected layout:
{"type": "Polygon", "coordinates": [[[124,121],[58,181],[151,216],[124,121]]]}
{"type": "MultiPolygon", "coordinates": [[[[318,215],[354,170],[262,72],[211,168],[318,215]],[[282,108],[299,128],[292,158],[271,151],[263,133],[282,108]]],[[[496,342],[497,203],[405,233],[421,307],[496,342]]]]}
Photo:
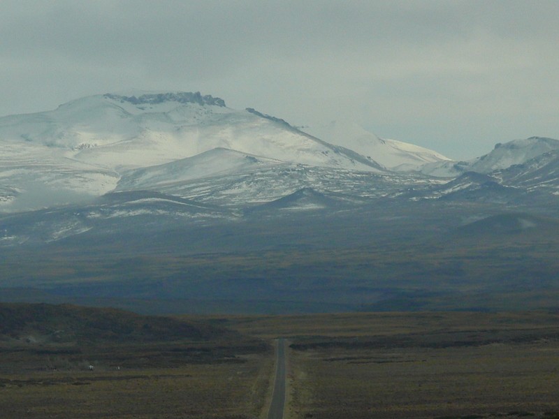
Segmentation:
{"type": "Polygon", "coordinates": [[[21,212],[0,219],[0,247],[76,235],[202,226],[236,217],[226,210],[153,191],[108,193],[85,205],[21,212]]]}

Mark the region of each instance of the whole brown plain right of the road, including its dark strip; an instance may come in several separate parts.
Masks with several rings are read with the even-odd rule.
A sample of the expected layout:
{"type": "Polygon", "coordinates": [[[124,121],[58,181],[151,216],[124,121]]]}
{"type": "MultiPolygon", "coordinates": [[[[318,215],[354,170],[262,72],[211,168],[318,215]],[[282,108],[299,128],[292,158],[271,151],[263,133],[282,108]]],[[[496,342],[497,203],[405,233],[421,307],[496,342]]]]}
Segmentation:
{"type": "Polygon", "coordinates": [[[556,313],[237,318],[291,340],[289,417],[559,417],[556,313]]]}

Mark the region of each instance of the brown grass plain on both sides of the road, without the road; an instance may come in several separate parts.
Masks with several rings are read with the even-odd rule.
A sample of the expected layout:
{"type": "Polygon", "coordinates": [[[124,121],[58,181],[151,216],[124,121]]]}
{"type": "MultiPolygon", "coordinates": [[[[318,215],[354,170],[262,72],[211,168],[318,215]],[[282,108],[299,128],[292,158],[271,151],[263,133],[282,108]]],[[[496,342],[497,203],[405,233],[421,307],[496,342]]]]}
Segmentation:
{"type": "Polygon", "coordinates": [[[0,337],[2,419],[266,418],[275,361],[266,342],[277,337],[290,344],[285,419],[559,418],[556,311],[184,316],[185,329],[177,318],[124,323],[118,311],[71,309],[97,341],[80,341],[82,323],[67,317],[76,329],[45,339],[60,322],[52,313],[0,337]],[[129,340],[106,333],[115,324],[129,340]]]}

